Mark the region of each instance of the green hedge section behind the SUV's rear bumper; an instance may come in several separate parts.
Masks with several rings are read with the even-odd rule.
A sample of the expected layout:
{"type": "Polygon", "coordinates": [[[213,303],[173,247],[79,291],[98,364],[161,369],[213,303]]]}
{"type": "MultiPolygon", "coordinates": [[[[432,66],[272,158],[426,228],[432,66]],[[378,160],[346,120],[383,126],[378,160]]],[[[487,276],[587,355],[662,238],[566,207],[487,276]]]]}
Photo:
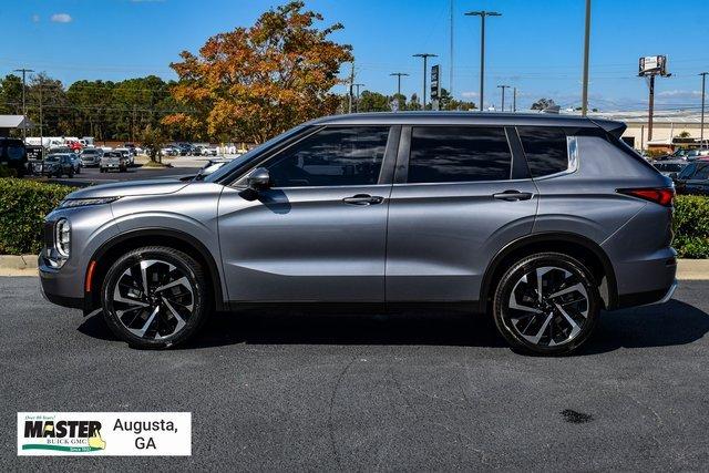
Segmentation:
{"type": "Polygon", "coordinates": [[[672,229],[680,258],[709,258],[709,197],[678,195],[672,229]]]}

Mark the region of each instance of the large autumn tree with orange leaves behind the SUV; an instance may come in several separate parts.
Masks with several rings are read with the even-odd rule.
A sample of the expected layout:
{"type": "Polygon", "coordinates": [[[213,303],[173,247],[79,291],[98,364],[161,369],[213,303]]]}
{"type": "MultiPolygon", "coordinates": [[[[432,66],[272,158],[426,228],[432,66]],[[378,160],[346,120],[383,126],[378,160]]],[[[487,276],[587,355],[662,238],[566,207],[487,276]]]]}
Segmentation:
{"type": "Polygon", "coordinates": [[[342,25],[319,29],[322,16],[302,1],[269,10],[250,28],[214,35],[171,66],[179,76],[175,100],[188,113],[163,123],[184,135],[263,143],[301,122],[335,113],[343,62],[351,47],[328,38],[342,25]]]}

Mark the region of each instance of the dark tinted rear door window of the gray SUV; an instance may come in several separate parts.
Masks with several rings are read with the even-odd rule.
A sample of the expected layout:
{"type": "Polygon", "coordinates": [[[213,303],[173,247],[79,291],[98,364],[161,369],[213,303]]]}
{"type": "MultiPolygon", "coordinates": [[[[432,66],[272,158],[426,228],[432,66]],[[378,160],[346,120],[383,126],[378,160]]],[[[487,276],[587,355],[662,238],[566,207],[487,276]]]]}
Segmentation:
{"type": "Polygon", "coordinates": [[[512,153],[503,127],[415,126],[409,183],[505,181],[512,153]]]}

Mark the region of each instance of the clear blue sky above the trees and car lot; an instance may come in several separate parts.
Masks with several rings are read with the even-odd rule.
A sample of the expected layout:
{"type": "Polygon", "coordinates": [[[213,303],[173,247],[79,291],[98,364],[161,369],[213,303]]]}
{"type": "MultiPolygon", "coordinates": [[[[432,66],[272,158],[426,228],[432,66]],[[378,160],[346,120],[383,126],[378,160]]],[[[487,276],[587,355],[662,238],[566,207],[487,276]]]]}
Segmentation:
{"type": "MultiPolygon", "coordinates": [[[[286,0],[282,0],[285,2],[286,0]]],[[[2,0],[0,74],[28,68],[65,85],[76,80],[122,80],[169,69],[183,50],[196,52],[207,38],[250,25],[274,0],[2,0]]],[[[585,0],[307,0],[323,25],[345,29],[332,39],[351,44],[357,82],[363,90],[421,94],[422,62],[436,53],[442,86],[479,103],[480,19],[471,10],[494,10],[486,21],[485,106],[500,106],[496,85],[517,88],[518,109],[540,97],[559,105],[580,102],[585,0]]],[[[589,106],[643,110],[648,89],[637,76],[638,58],[666,54],[670,78],[656,83],[656,106],[700,107],[701,78],[709,71],[709,0],[593,0],[589,106]]],[[[341,76],[349,74],[349,65],[341,76]]],[[[345,86],[336,92],[343,93],[345,86]]],[[[507,91],[506,105],[510,104],[507,91]]]]}

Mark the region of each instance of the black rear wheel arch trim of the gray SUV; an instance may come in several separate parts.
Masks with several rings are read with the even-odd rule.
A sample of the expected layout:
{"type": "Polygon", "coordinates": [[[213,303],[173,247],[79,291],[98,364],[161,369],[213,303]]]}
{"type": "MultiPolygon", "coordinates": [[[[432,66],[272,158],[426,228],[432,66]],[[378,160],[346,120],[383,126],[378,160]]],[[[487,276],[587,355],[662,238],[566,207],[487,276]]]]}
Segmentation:
{"type": "Polygon", "coordinates": [[[532,234],[518,238],[502,248],[487,265],[480,292],[480,310],[489,311],[495,290],[494,281],[502,277],[510,265],[526,255],[542,251],[563,253],[572,256],[593,273],[604,308],[613,310],[618,305],[618,285],[610,259],[603,248],[583,235],[566,232],[532,234]]]}

